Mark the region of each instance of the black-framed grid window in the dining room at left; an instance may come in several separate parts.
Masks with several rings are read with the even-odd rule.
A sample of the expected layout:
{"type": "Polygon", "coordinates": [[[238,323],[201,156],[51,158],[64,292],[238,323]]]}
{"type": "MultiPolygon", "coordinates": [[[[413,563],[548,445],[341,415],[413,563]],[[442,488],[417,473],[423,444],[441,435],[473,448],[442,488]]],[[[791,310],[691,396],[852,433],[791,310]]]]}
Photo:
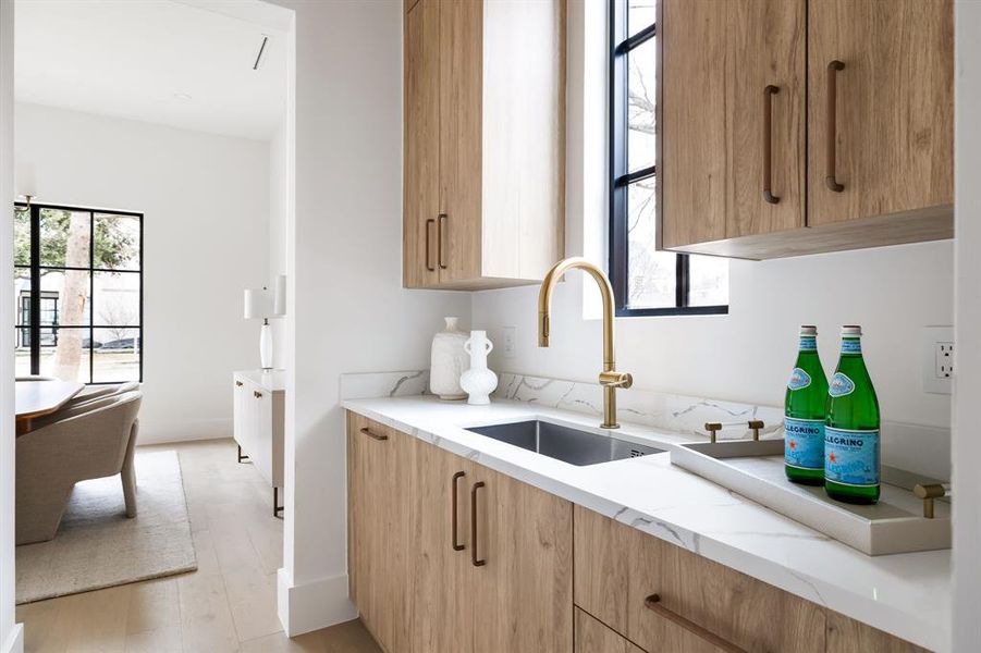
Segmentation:
{"type": "Polygon", "coordinates": [[[143,381],[143,214],[14,207],[16,373],[143,381]]]}

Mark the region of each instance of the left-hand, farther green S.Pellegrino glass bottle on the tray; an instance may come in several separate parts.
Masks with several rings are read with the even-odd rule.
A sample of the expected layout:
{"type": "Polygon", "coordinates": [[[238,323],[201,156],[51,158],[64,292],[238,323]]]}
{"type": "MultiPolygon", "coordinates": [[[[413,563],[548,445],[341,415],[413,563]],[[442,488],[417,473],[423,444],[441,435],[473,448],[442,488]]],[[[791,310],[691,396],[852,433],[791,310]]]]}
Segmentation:
{"type": "Polygon", "coordinates": [[[818,357],[818,328],[804,324],[784,396],[784,470],[795,483],[824,484],[826,403],[827,377],[818,357]]]}

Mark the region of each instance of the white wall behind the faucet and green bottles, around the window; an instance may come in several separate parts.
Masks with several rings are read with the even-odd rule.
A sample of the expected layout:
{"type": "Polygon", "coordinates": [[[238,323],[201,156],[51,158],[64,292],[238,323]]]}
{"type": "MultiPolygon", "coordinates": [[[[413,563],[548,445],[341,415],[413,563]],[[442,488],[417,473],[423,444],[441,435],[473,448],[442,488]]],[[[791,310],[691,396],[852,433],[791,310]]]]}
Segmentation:
{"type": "MultiPolygon", "coordinates": [[[[605,12],[603,2],[571,2],[568,14],[568,229],[566,251],[605,267],[605,12]]],[[[797,326],[814,323],[825,371],[837,359],[838,326],[862,324],[866,358],[893,421],[948,426],[946,395],[923,393],[920,330],[953,320],[953,244],[732,261],[729,315],[623,318],[616,321],[617,369],[657,391],[781,405],[794,364],[797,326]]],[[[516,326],[517,348],[491,355],[499,371],[596,381],[601,329],[584,319],[579,272],[553,295],[551,347],[537,346],[538,288],[475,293],[473,322],[500,342],[516,326]]],[[[590,295],[587,295],[590,299],[590,295]]],[[[629,391],[626,391],[629,392],[629,391]]]]}

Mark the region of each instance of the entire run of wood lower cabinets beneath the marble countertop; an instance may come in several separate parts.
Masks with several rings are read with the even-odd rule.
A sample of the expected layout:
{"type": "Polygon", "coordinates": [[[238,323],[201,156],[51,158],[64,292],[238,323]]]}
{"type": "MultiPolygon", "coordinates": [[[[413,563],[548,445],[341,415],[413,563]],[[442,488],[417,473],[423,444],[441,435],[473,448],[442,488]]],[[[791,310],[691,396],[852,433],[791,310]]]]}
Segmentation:
{"type": "Polygon", "coordinates": [[[347,485],[351,596],[387,653],[924,653],[353,412],[347,485]]]}

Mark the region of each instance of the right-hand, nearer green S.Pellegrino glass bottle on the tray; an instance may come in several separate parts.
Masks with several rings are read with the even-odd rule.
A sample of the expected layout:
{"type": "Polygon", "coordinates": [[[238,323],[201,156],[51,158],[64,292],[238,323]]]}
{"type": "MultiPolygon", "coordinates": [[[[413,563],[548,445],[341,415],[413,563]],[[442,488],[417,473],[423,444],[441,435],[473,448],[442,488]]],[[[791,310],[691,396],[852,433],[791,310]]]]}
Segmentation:
{"type": "Polygon", "coordinates": [[[861,355],[861,326],[842,326],[842,357],[827,391],[824,491],[856,504],[879,501],[879,398],[861,355]]]}

